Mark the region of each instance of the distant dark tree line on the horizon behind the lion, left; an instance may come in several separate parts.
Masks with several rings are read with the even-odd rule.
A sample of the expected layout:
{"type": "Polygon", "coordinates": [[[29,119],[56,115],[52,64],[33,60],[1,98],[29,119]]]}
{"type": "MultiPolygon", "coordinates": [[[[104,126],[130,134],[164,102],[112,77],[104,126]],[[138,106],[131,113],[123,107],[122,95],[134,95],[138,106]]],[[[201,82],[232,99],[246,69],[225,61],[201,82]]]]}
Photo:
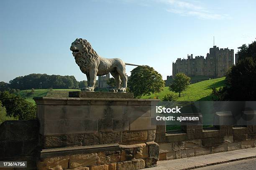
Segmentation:
{"type": "Polygon", "coordinates": [[[47,74],[29,74],[19,76],[8,83],[0,82],[0,91],[10,89],[77,89],[87,86],[86,81],[77,81],[74,76],[60,76],[47,74]]]}

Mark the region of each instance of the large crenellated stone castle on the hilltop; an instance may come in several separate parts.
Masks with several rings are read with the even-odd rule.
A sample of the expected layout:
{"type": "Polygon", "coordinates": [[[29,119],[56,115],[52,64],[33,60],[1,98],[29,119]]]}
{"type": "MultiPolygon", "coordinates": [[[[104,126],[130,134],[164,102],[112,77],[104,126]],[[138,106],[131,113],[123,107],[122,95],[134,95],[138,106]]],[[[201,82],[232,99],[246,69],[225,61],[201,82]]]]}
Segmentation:
{"type": "Polygon", "coordinates": [[[178,58],[172,63],[172,75],[184,73],[189,77],[205,76],[208,78],[223,77],[228,69],[234,65],[234,50],[213,46],[210,53],[193,58],[187,55],[187,59],[178,58]]]}

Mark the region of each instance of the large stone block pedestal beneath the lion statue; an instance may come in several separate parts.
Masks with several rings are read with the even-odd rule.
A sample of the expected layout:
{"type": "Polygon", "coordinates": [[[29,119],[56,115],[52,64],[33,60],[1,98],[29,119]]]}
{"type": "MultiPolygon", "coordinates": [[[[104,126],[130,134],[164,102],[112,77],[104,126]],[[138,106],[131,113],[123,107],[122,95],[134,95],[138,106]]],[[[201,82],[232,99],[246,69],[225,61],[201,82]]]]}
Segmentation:
{"type": "Polygon", "coordinates": [[[110,93],[115,97],[111,99],[104,92],[69,96],[78,97],[34,98],[42,147],[38,169],[123,170],[156,165],[158,100],[133,99],[128,93],[110,93]]]}

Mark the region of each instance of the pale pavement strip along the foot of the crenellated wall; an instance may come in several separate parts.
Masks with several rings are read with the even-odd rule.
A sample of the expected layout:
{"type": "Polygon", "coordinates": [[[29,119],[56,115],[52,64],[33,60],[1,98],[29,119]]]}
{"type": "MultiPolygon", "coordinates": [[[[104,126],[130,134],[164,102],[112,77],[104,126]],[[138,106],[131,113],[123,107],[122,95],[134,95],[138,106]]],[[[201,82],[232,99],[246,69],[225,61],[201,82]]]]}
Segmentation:
{"type": "Polygon", "coordinates": [[[214,153],[209,155],[201,155],[197,157],[158,161],[157,167],[147,168],[146,170],[189,170],[251,158],[256,158],[256,147],[243,150],[214,153]]]}

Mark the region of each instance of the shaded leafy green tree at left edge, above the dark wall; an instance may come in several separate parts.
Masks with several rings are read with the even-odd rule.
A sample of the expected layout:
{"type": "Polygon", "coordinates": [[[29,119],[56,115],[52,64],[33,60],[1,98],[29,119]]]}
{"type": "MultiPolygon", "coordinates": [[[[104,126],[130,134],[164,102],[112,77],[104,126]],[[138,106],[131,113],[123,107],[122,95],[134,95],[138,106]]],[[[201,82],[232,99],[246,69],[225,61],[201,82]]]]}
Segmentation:
{"type": "Polygon", "coordinates": [[[36,106],[21,96],[4,91],[0,92],[0,101],[6,108],[7,116],[18,117],[20,120],[36,119],[36,106]]]}

